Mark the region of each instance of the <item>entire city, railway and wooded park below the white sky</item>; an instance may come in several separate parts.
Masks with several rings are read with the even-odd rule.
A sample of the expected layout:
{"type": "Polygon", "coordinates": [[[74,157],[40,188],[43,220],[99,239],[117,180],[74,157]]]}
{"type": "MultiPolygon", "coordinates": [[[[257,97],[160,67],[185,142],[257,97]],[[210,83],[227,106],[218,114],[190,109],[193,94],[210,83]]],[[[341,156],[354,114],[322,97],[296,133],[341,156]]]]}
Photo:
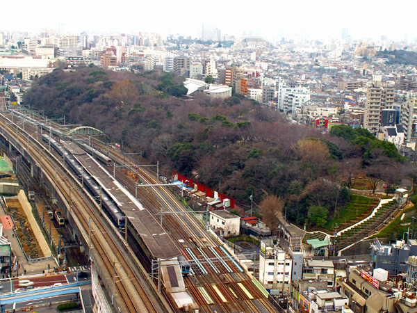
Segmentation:
{"type": "Polygon", "coordinates": [[[417,313],[417,40],[339,33],[0,31],[2,312],[417,313]]]}

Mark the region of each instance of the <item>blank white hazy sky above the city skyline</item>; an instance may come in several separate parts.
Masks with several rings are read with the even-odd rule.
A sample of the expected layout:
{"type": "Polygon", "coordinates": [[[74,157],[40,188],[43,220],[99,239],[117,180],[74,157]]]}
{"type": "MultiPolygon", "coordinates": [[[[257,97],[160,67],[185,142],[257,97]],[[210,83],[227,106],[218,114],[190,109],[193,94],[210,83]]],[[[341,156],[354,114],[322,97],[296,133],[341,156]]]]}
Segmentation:
{"type": "Polygon", "coordinates": [[[354,38],[408,40],[417,37],[414,1],[6,1],[0,30],[38,33],[49,26],[78,34],[154,31],[201,35],[202,23],[222,34],[240,37],[258,30],[263,36],[310,35],[341,38],[342,28],[354,38]]]}

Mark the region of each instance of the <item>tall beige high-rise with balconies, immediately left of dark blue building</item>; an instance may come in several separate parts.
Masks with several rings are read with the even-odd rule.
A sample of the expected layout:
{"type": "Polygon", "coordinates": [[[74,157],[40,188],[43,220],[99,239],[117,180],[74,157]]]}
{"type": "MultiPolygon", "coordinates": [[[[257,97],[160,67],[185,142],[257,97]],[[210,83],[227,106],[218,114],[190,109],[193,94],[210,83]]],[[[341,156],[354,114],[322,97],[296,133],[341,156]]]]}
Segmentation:
{"type": "Polygon", "coordinates": [[[366,92],[365,111],[363,114],[363,128],[377,134],[381,127],[381,113],[383,109],[393,109],[394,88],[382,86],[382,77],[375,75],[372,87],[366,92]]]}

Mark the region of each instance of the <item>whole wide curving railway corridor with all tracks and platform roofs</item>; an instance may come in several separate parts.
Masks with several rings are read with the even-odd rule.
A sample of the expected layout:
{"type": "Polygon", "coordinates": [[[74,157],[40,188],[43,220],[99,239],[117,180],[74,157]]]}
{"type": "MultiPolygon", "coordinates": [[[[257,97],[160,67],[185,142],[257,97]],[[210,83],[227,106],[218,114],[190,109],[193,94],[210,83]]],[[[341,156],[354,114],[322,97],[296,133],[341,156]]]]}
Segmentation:
{"type": "MultiPolygon", "coordinates": [[[[68,134],[62,125],[49,121],[49,129],[38,127],[37,123],[44,122],[41,118],[8,111],[4,104],[1,111],[0,135],[26,159],[31,175],[56,198],[74,240],[88,255],[115,311],[277,312],[268,293],[233,252],[223,248],[213,233],[186,211],[169,186],[161,186],[158,177],[137,166],[137,161],[85,137],[83,131],[73,131],[72,142],[53,131],[68,134]],[[42,134],[55,138],[74,156],[83,167],[81,175],[71,170],[65,156],[51,148],[51,143],[42,141],[42,134]],[[107,152],[113,168],[74,143],[80,139],[107,152]],[[93,177],[117,204],[124,214],[122,227],[103,209],[101,191],[97,199],[85,187],[84,174],[93,177]],[[138,188],[140,183],[143,186],[138,188]],[[158,216],[164,213],[169,217],[161,223],[158,216]],[[189,275],[183,276],[181,264],[189,265],[189,275]]],[[[105,305],[102,309],[106,312],[105,305]]]]}

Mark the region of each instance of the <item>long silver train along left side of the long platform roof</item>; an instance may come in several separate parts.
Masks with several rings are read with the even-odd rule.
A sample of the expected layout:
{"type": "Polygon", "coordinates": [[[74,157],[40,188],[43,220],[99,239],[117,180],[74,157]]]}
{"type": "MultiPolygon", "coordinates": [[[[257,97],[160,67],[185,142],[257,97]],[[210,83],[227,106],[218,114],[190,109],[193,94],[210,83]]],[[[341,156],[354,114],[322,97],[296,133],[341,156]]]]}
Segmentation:
{"type": "MultiPolygon", "coordinates": [[[[43,134],[42,139],[43,141],[49,143],[48,135],[43,134]]],[[[91,177],[86,170],[83,170],[81,163],[79,163],[79,161],[77,161],[65,147],[57,143],[53,138],[51,138],[51,147],[54,147],[54,149],[60,155],[65,155],[65,161],[68,163],[68,165],[70,165],[72,170],[74,170],[76,175],[83,177],[85,186],[88,188],[92,196],[98,200],[100,198],[99,183],[93,177],[91,177]]],[[[117,207],[117,204],[112,200],[110,195],[108,195],[104,189],[101,190],[101,203],[108,216],[111,218],[111,220],[113,220],[113,223],[115,223],[118,227],[124,227],[123,212],[120,211],[119,207],[117,207]]]]}

